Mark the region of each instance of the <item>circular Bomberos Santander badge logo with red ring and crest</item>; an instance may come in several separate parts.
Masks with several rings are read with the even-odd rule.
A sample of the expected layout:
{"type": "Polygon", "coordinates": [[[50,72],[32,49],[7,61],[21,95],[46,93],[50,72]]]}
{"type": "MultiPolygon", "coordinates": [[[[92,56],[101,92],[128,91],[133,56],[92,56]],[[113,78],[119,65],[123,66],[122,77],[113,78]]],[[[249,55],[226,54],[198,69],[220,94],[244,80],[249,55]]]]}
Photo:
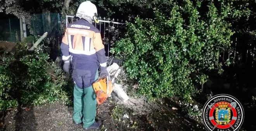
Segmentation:
{"type": "Polygon", "coordinates": [[[235,97],[219,94],[206,102],[202,119],[209,131],[237,131],[244,121],[244,109],[235,97]]]}

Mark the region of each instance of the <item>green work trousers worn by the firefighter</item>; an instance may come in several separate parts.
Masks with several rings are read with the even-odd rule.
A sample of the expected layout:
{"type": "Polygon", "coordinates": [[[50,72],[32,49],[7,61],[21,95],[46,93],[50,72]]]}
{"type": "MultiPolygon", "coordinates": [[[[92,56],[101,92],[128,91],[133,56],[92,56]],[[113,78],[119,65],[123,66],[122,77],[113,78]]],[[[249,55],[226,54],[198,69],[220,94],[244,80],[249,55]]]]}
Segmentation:
{"type": "MultiPolygon", "coordinates": [[[[96,72],[95,81],[98,79],[98,71],[96,72]]],[[[74,110],[73,120],[76,123],[83,122],[83,128],[87,128],[95,121],[96,116],[96,96],[92,86],[84,89],[74,85],[74,110]]]]}

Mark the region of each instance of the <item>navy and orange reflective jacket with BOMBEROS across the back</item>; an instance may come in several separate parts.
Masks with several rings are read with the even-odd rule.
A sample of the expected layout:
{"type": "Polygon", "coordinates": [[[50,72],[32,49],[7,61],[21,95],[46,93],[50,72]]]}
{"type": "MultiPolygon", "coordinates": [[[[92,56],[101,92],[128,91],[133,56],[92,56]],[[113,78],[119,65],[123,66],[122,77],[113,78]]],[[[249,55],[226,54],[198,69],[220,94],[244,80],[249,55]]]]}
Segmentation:
{"type": "Polygon", "coordinates": [[[84,19],[67,26],[61,52],[64,62],[69,62],[72,56],[72,77],[80,88],[92,84],[99,65],[107,66],[100,31],[84,19]]]}

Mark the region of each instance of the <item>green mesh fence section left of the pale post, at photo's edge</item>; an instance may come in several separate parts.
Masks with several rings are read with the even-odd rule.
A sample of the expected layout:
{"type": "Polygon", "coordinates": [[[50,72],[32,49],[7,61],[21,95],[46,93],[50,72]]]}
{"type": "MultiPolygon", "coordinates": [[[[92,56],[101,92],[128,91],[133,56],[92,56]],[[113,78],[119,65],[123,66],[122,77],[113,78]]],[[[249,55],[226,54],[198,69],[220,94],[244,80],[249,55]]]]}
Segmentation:
{"type": "Polygon", "coordinates": [[[0,20],[0,41],[18,42],[21,40],[21,29],[18,18],[0,20]]]}

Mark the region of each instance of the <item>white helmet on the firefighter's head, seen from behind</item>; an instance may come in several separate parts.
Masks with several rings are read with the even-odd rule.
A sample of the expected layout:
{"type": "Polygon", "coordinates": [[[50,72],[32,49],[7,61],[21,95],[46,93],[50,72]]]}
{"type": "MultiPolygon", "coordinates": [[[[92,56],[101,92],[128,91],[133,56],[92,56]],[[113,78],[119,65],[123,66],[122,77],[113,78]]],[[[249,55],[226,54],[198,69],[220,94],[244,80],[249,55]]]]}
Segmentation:
{"type": "Polygon", "coordinates": [[[95,22],[98,23],[97,14],[96,6],[92,2],[86,1],[79,5],[76,17],[84,18],[90,23],[92,23],[92,20],[94,19],[95,22]]]}

